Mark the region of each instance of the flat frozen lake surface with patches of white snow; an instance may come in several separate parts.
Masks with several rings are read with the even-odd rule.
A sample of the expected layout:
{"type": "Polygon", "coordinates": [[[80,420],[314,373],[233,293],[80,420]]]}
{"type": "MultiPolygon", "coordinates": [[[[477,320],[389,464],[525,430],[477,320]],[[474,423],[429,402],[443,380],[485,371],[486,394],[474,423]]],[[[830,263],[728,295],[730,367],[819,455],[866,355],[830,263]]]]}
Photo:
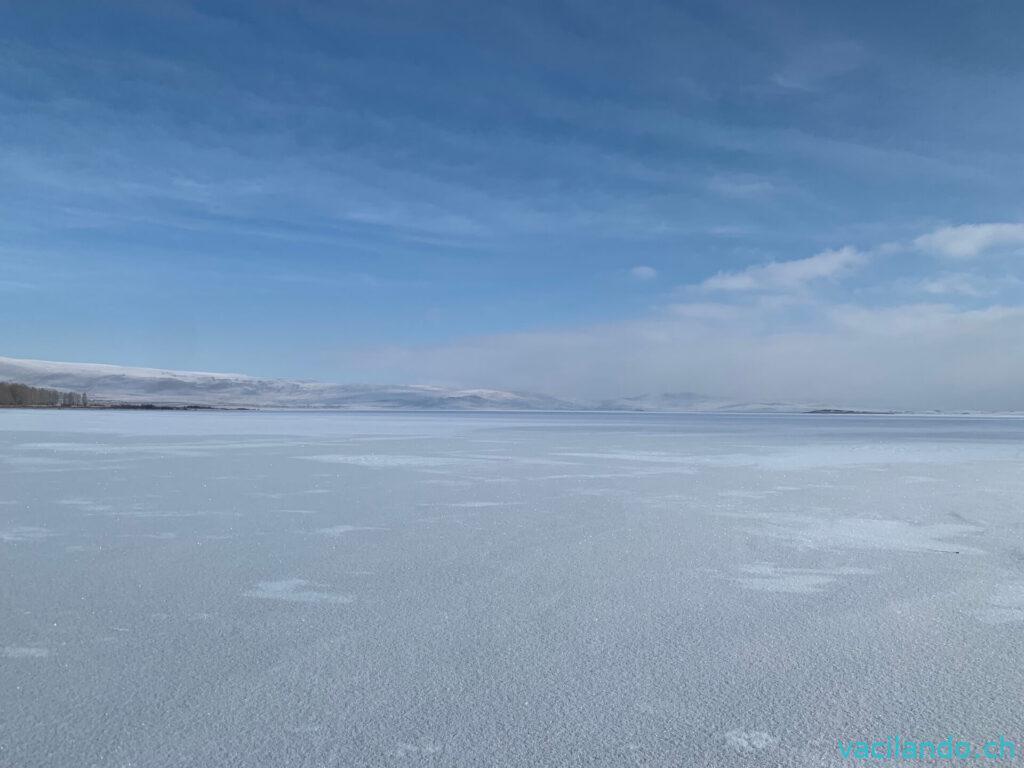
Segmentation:
{"type": "Polygon", "coordinates": [[[0,412],[0,766],[1024,744],[1024,420],[0,412]]]}

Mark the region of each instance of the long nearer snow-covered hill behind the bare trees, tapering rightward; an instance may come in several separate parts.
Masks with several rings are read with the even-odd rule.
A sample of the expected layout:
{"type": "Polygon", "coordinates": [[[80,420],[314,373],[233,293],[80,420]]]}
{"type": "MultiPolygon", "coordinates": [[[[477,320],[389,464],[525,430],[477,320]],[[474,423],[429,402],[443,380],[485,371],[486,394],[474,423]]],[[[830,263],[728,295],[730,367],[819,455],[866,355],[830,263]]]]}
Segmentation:
{"type": "Polygon", "coordinates": [[[325,384],[294,379],[257,379],[241,374],[162,371],[13,357],[0,357],[0,381],[85,392],[94,402],[367,410],[513,411],[574,408],[572,403],[555,397],[496,389],[325,384]]]}

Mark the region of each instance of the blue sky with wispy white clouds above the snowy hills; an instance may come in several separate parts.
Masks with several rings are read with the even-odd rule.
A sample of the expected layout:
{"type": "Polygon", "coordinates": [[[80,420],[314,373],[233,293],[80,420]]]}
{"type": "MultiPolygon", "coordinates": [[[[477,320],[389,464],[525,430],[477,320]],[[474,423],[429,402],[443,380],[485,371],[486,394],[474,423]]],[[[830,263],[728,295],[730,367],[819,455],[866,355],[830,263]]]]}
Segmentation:
{"type": "Polygon", "coordinates": [[[1024,408],[1018,2],[0,2],[0,354],[1024,408]]]}

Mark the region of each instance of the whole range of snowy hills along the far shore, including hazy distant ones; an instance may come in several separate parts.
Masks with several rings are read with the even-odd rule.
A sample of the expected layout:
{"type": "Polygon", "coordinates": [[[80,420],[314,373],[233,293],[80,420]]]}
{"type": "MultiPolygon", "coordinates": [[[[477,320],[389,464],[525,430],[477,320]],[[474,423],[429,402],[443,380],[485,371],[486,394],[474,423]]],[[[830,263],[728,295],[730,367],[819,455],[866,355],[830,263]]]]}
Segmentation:
{"type": "Polygon", "coordinates": [[[501,389],[419,384],[328,384],[243,374],[168,371],[0,356],[0,381],[81,392],[90,402],[210,408],[327,408],[369,411],[630,411],[805,413],[819,404],[738,402],[692,392],[581,402],[501,389]]]}

